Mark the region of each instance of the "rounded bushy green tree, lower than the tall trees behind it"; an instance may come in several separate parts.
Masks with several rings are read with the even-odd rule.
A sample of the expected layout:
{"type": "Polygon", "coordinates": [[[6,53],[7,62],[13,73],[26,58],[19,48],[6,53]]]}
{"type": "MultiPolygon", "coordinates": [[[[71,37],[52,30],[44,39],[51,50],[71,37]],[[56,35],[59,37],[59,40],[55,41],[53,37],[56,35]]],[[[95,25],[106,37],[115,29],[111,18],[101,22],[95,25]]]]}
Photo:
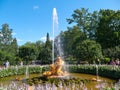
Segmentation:
{"type": "Polygon", "coordinates": [[[94,63],[94,61],[103,57],[101,45],[93,40],[84,40],[78,43],[75,51],[74,54],[78,60],[88,61],[89,63],[94,63]]]}

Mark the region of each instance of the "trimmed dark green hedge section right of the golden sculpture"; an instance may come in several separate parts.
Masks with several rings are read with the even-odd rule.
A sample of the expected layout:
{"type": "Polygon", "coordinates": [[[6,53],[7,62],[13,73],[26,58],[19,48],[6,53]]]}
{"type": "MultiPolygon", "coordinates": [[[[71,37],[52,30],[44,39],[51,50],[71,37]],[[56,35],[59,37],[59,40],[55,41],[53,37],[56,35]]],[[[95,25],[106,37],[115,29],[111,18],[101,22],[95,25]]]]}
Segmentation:
{"type": "MultiPolygon", "coordinates": [[[[120,66],[99,65],[98,75],[111,79],[120,79],[120,66]]],[[[86,73],[96,75],[96,65],[71,65],[68,67],[70,73],[86,73]]]]}

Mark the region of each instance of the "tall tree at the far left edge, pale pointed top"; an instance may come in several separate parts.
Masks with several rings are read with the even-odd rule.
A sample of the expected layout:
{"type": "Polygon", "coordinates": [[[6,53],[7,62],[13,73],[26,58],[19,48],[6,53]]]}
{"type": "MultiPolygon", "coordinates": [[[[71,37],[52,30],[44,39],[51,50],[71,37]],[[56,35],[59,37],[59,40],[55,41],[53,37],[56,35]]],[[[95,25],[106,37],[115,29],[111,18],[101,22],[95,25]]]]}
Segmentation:
{"type": "Polygon", "coordinates": [[[0,60],[2,64],[6,61],[14,62],[18,53],[17,40],[12,37],[12,29],[8,24],[3,24],[0,30],[0,60]]]}

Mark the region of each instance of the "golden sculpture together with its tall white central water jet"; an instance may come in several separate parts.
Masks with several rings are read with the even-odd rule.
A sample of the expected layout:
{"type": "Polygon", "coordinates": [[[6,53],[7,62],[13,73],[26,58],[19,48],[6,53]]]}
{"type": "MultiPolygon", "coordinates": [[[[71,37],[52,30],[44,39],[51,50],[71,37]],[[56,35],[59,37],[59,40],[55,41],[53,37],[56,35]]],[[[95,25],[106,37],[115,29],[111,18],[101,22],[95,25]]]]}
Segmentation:
{"type": "Polygon", "coordinates": [[[57,60],[54,62],[54,31],[58,30],[58,16],[56,8],[53,8],[53,43],[52,43],[52,64],[50,65],[50,71],[45,71],[43,73],[44,76],[52,77],[63,77],[67,76],[68,73],[66,71],[62,71],[64,66],[64,61],[61,58],[61,46],[60,46],[60,37],[58,37],[58,54],[60,57],[57,57],[57,60]]]}

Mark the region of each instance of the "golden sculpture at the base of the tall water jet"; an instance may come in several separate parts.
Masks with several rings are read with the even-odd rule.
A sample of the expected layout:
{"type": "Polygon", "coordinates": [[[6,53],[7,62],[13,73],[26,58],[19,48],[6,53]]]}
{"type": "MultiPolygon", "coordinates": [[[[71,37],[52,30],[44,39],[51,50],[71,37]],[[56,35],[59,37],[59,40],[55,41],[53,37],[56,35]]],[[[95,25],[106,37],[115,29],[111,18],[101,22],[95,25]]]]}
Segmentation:
{"type": "Polygon", "coordinates": [[[43,75],[49,77],[66,76],[68,73],[66,71],[62,71],[63,66],[64,61],[61,57],[58,57],[55,63],[50,65],[50,71],[45,71],[43,75]]]}

